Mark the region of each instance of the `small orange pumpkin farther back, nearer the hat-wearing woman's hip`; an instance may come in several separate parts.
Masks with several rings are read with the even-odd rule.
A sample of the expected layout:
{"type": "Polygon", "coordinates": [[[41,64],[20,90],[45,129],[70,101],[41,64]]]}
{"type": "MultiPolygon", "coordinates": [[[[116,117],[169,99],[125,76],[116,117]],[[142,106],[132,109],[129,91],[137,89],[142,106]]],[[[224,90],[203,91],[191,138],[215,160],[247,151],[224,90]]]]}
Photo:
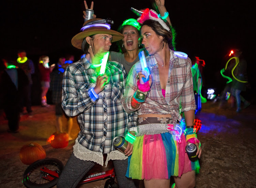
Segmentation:
{"type": "Polygon", "coordinates": [[[69,135],[67,133],[54,133],[47,141],[53,148],[65,148],[69,145],[69,135]]]}

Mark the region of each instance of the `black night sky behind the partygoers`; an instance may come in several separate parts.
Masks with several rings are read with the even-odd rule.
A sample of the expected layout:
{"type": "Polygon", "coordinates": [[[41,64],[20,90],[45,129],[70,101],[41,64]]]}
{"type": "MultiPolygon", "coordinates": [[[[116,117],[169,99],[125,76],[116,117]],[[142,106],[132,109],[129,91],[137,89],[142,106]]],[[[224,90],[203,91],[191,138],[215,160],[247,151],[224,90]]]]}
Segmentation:
{"type": "MultiPolygon", "coordinates": [[[[253,2],[253,1],[252,1],[253,2]]],[[[91,1],[87,1],[90,7],[91,1]]],[[[255,92],[255,6],[249,1],[172,1],[165,0],[172,25],[177,32],[177,51],[189,57],[199,56],[206,66],[205,87],[223,89],[226,80],[221,77],[230,50],[241,48],[247,61],[247,71],[251,88],[243,93],[245,98],[254,101],[255,92]]],[[[130,11],[152,8],[150,0],[94,0],[94,13],[98,18],[111,18],[117,30],[123,20],[137,16],[130,11]]],[[[82,51],[71,45],[72,37],[82,27],[85,10],[83,0],[9,0],[1,5],[1,46],[0,57],[15,60],[17,50],[25,49],[28,58],[35,65],[40,55],[48,55],[50,64],[58,58],[74,54],[75,61],[82,51]]],[[[111,49],[115,51],[115,43],[111,49]]],[[[33,75],[34,96],[38,72],[33,75]]],[[[38,82],[40,85],[40,82],[38,82]]],[[[32,99],[36,104],[40,99],[32,99]]]]}

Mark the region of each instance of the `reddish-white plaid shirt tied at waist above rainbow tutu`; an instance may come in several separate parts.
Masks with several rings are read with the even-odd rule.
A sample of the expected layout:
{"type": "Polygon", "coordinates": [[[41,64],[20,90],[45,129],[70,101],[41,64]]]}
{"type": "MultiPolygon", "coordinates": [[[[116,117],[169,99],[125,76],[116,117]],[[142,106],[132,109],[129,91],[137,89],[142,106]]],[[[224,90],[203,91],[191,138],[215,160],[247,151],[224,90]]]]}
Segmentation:
{"type": "Polygon", "coordinates": [[[132,113],[138,110],[138,115],[142,114],[171,114],[173,122],[176,119],[181,121],[181,112],[195,110],[195,97],[193,91],[193,79],[191,72],[190,58],[180,58],[170,50],[169,77],[166,84],[165,98],[159,78],[158,64],[154,55],[146,57],[147,66],[150,69],[153,83],[144,103],[137,109],[131,106],[133,94],[138,89],[137,75],[141,71],[140,62],[137,62],[129,72],[125,93],[122,99],[124,110],[132,113]],[[180,107],[181,106],[181,107],[180,107]]]}

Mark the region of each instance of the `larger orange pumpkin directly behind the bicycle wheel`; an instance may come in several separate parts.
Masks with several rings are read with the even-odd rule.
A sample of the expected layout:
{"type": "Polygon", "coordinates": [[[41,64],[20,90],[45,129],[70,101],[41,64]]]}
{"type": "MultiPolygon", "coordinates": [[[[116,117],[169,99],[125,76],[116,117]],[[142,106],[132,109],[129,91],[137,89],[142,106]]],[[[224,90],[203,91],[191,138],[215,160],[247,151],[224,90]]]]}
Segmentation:
{"type": "Polygon", "coordinates": [[[36,142],[23,146],[19,152],[19,158],[25,165],[31,165],[34,161],[44,159],[45,157],[46,153],[44,148],[36,142]]]}

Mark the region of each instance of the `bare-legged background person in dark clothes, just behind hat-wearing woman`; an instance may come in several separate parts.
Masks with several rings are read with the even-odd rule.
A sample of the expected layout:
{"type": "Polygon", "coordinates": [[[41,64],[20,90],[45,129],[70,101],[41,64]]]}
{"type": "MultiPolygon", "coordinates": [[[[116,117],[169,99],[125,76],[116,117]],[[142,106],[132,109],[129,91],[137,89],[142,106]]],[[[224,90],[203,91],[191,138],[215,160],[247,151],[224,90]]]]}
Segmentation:
{"type": "Polygon", "coordinates": [[[52,102],[55,104],[55,115],[56,115],[56,131],[63,132],[63,114],[67,120],[67,134],[69,134],[69,140],[72,140],[71,129],[73,126],[73,119],[68,117],[61,107],[61,96],[62,96],[62,78],[63,73],[69,63],[65,63],[65,58],[60,57],[57,67],[50,74],[50,90],[52,91],[52,102]]]}

